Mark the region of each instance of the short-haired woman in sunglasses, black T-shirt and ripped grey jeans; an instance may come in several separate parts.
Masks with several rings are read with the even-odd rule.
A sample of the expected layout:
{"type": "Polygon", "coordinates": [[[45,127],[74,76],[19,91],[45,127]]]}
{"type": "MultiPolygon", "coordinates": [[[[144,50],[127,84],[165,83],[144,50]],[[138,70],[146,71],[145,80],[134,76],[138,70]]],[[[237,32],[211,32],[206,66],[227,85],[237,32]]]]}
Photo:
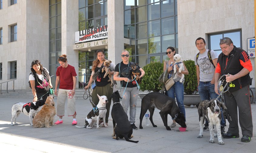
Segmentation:
{"type": "MultiPolygon", "coordinates": [[[[122,96],[123,109],[127,114],[128,107],[130,106],[130,124],[132,125],[133,130],[137,130],[138,128],[135,126],[134,123],[135,123],[135,117],[136,117],[136,105],[137,105],[137,98],[139,95],[139,89],[137,87],[136,82],[131,81],[131,78],[132,78],[131,65],[133,64],[133,62],[129,62],[129,52],[126,50],[122,51],[121,58],[122,58],[122,62],[118,63],[115,68],[114,80],[120,81],[121,83],[120,95],[122,96]]],[[[138,78],[141,78],[143,77],[145,72],[142,68],[140,68],[140,66],[138,66],[138,69],[141,72],[141,75],[138,76],[138,78]]]]}

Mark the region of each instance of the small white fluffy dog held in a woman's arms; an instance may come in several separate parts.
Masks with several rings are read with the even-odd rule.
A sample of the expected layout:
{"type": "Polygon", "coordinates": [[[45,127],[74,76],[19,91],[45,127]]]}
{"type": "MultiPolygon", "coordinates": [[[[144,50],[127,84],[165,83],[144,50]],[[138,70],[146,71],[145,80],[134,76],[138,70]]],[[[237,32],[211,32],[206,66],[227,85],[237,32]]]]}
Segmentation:
{"type": "Polygon", "coordinates": [[[181,59],[181,56],[179,54],[176,54],[173,56],[173,60],[175,61],[174,63],[174,67],[173,67],[173,72],[176,73],[177,72],[177,67],[176,65],[178,65],[179,67],[179,72],[177,72],[175,74],[175,76],[173,77],[173,79],[176,79],[178,77],[180,77],[180,83],[182,83],[182,81],[184,80],[184,74],[181,73],[181,71],[184,71],[184,65],[181,59]]]}

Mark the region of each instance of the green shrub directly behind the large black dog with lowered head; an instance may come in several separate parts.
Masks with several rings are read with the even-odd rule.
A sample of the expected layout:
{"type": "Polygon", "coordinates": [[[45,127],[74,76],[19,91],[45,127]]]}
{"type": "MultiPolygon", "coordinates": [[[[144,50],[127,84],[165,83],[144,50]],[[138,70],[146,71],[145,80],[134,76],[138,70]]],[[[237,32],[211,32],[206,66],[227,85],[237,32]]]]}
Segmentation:
{"type": "Polygon", "coordinates": [[[162,90],[162,83],[158,81],[159,76],[163,73],[163,63],[153,62],[143,67],[145,75],[140,84],[141,91],[159,92],[162,90]]]}

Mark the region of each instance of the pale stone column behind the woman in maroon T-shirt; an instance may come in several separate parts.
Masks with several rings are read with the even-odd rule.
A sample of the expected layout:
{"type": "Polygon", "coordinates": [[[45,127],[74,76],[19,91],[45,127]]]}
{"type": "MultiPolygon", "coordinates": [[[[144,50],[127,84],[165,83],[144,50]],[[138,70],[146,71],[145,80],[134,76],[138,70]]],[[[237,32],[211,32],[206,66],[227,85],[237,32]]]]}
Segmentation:
{"type": "MultiPolygon", "coordinates": [[[[78,82],[78,51],[73,50],[75,32],[78,31],[78,0],[61,1],[61,53],[67,55],[68,64],[76,69],[78,82]]],[[[78,88],[78,83],[76,83],[78,88]]]]}

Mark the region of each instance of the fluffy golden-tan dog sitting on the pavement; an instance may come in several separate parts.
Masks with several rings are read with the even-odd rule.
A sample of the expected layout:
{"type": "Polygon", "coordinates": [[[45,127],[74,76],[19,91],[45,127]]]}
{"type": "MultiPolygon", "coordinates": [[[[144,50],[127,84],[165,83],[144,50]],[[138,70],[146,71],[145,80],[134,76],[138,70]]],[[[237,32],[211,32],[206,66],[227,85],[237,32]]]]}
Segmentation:
{"type": "Polygon", "coordinates": [[[48,96],[45,105],[35,115],[33,119],[33,128],[50,128],[53,124],[54,116],[56,115],[55,102],[52,96],[48,96]]]}

